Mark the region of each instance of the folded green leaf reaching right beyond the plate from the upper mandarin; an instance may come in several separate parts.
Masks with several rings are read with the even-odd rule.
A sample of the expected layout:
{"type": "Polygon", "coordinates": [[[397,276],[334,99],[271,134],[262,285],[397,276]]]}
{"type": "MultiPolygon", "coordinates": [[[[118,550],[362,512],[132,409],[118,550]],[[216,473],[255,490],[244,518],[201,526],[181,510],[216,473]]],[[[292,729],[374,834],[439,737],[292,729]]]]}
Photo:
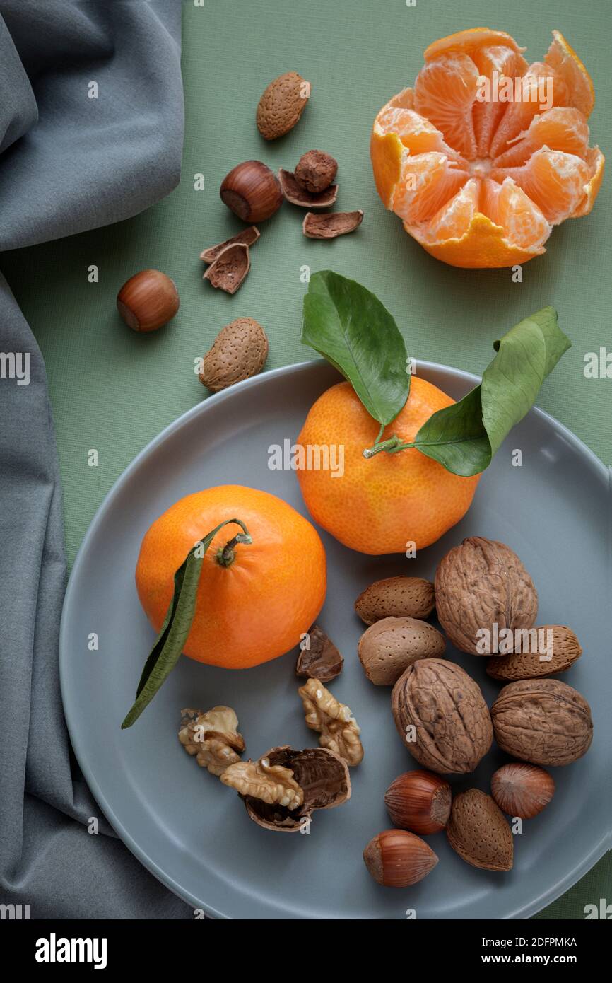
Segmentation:
{"type": "Polygon", "coordinates": [[[554,308],[542,308],[520,321],[494,343],[497,355],[480,385],[434,413],[418,431],[414,446],[456,475],[484,471],[571,345],[554,308]]]}

